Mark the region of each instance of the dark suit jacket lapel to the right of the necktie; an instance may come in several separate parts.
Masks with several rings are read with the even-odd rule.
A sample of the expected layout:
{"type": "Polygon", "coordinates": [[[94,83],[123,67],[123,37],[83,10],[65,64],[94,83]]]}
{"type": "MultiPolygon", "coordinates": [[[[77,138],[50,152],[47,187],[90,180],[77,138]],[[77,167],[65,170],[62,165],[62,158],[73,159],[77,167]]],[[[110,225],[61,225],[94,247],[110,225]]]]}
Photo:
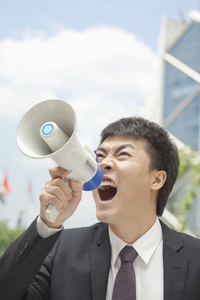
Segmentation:
{"type": "Polygon", "coordinates": [[[177,253],[183,243],[176,231],[171,230],[161,220],[160,224],[163,235],[164,300],[180,300],[184,293],[188,257],[177,253]]]}

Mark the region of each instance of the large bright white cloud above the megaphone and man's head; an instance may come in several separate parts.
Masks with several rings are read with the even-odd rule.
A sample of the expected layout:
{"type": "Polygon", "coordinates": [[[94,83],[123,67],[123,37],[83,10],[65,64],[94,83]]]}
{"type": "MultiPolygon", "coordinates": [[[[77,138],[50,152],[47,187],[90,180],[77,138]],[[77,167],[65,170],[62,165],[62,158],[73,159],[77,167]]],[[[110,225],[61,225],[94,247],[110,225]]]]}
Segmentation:
{"type": "Polygon", "coordinates": [[[148,46],[121,29],[60,29],[51,36],[25,30],[20,39],[0,41],[0,113],[21,114],[59,97],[88,105],[95,119],[103,119],[102,111],[130,113],[126,99],[134,113],[156,85],[157,64],[148,46]]]}

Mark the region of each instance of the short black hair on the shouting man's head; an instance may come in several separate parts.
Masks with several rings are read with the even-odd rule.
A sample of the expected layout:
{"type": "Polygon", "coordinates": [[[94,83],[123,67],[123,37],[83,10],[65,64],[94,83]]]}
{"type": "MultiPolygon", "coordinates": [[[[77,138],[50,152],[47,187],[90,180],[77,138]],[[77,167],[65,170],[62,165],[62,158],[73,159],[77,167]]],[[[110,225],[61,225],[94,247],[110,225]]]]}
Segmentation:
{"type": "Polygon", "coordinates": [[[175,143],[163,127],[143,117],[125,117],[108,124],[100,133],[100,144],[110,135],[146,140],[146,151],[150,155],[149,171],[166,172],[166,180],[157,196],[156,214],[161,216],[178,174],[179,158],[175,143]]]}

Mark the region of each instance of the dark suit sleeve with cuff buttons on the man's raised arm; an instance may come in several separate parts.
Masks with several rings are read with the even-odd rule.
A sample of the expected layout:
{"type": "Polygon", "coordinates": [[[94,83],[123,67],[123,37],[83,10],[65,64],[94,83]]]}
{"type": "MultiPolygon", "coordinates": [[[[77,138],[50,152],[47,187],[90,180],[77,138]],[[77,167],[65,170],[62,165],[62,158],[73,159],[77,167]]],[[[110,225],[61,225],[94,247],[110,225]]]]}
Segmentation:
{"type": "Polygon", "coordinates": [[[0,257],[1,300],[49,299],[50,274],[61,231],[43,238],[37,233],[35,219],[10,244],[0,257]]]}

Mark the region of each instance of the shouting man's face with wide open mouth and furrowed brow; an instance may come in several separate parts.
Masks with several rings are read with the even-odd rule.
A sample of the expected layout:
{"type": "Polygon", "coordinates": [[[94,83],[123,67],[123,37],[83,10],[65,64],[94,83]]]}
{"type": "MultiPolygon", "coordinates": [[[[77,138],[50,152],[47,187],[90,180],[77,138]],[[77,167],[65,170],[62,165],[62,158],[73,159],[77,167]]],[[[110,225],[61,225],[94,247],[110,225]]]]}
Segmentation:
{"type": "Polygon", "coordinates": [[[150,156],[145,146],[145,140],[117,135],[107,137],[97,149],[103,182],[108,184],[92,191],[100,221],[116,224],[145,210],[155,211],[156,203],[151,199],[153,171],[149,171],[150,156]]]}

